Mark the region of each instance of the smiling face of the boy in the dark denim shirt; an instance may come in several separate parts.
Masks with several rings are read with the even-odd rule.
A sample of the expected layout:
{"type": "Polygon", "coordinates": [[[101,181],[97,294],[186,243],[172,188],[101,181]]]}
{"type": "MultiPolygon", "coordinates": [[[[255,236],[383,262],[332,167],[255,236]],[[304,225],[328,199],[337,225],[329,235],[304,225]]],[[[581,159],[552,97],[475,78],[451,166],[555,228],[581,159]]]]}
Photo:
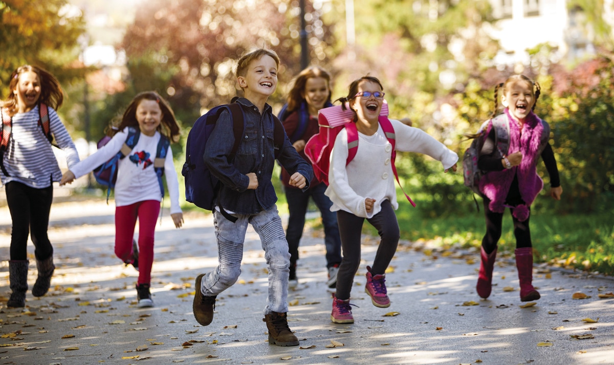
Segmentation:
{"type": "Polygon", "coordinates": [[[250,99],[248,94],[271,96],[277,87],[277,63],[273,57],[263,55],[249,63],[245,76],[239,76],[237,80],[247,99],[250,99]]]}

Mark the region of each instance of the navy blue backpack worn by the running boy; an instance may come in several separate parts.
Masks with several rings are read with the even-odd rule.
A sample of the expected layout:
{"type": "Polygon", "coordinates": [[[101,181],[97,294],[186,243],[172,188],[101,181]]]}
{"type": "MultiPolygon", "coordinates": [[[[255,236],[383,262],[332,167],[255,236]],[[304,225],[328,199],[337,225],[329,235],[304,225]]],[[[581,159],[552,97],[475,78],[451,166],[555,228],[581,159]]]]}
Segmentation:
{"type": "MultiPolygon", "coordinates": [[[[220,188],[220,180],[211,174],[211,171],[209,171],[209,168],[204,163],[204,148],[220,114],[224,110],[228,110],[233,120],[233,134],[235,136],[235,143],[233,144],[229,161],[232,162],[235,158],[245,128],[243,109],[235,100],[236,98],[233,98],[230,104],[214,107],[204,115],[201,115],[194,122],[185,144],[185,163],[181,170],[181,174],[185,177],[185,200],[206,210],[213,210],[214,206],[216,206],[215,198],[220,188]]],[[[284,144],[286,131],[284,131],[281,121],[274,115],[273,120],[275,122],[273,141],[276,146],[275,158],[277,158],[284,144]]]]}

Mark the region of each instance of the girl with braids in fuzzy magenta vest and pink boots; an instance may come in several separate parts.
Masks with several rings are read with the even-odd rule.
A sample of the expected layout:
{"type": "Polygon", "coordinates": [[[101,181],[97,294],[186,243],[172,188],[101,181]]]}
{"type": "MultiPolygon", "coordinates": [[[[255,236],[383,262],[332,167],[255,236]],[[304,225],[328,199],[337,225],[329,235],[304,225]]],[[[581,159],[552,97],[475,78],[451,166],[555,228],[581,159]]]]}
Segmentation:
{"type": "Polygon", "coordinates": [[[543,188],[543,181],[535,169],[540,156],[550,175],[550,195],[560,200],[563,190],[550,143],[540,146],[545,121],[533,112],[540,94],[539,84],[524,75],[509,77],[495,88],[495,111],[500,88],[503,90],[501,104],[505,107],[510,125],[510,143],[507,155],[498,152],[491,124],[478,160],[478,167],[487,173],[480,179],[486,234],[482,239],[480,276],[476,289],[481,298],[488,298],[491,294],[492,267],[497,256],[497,242],[501,237],[503,212],[509,208],[516,237],[520,300],[535,301],[540,298],[540,294],[532,285],[533,252],[529,215],[530,205],[543,188]]]}

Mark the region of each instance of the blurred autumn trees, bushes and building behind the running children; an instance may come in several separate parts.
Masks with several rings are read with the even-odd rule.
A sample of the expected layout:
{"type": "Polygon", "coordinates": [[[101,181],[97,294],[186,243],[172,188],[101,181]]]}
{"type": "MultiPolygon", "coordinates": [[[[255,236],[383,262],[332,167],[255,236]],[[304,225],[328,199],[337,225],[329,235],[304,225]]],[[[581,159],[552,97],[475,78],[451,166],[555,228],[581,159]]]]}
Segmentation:
{"type": "MultiPolygon", "coordinates": [[[[51,71],[84,157],[134,94],[156,90],[182,125],[177,171],[196,118],[240,95],[233,68],[246,48],[281,58],[274,112],[308,65],[331,72],[333,100],[371,74],[392,117],[461,156],[464,135],[492,113],[495,85],[527,75],[542,87],[535,112],[551,124],[564,188],[562,201],[543,196],[534,212],[605,217],[598,236],[614,242],[613,0],[4,0],[0,20],[2,98],[16,67],[51,71]]],[[[475,215],[462,171],[441,174],[411,154],[397,166],[420,217],[475,215]]]]}

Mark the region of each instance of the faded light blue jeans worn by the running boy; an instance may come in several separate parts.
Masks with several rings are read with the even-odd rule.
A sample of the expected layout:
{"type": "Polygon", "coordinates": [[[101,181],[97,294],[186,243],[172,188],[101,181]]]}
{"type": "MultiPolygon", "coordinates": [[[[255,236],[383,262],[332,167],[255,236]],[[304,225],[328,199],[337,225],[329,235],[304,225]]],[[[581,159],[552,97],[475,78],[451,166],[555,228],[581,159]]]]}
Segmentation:
{"type": "Polygon", "coordinates": [[[239,279],[243,242],[249,223],[260,236],[268,264],[269,290],[264,313],[265,315],[271,312],[286,313],[290,253],[277,207],[253,215],[232,215],[238,218],[235,223],[224,218],[217,210],[213,210],[219,264],[214,271],[204,275],[201,285],[203,295],[214,296],[222,293],[239,279]]]}

